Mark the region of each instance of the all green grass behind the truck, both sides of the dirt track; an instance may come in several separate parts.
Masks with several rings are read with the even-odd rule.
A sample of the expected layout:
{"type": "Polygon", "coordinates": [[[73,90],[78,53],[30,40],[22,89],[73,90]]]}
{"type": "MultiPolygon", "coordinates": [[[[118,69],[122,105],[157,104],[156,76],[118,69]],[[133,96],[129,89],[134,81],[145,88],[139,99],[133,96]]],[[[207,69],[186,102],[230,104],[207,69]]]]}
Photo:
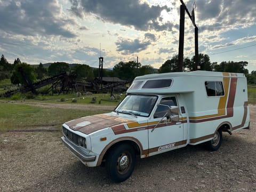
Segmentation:
{"type": "MultiPolygon", "coordinates": [[[[6,82],[8,84],[9,82],[6,82]]],[[[2,84],[4,87],[4,83],[2,84]]],[[[1,89],[1,87],[0,87],[1,89]]],[[[15,96],[15,95],[14,95],[15,96]]],[[[24,101],[23,95],[16,95],[19,101],[24,101]]],[[[93,94],[81,95],[77,97],[76,94],[67,95],[53,95],[43,96],[38,95],[35,99],[26,99],[28,102],[43,102],[43,103],[72,103],[72,105],[86,105],[91,103],[92,98],[96,98],[94,105],[111,105],[116,106],[119,101],[124,98],[125,94],[116,94],[119,99],[110,100],[110,94],[93,94]],[[72,102],[76,99],[76,102],[72,102]],[[100,104],[99,104],[100,101],[100,104]]],[[[13,98],[5,98],[2,101],[15,100],[13,98]]],[[[256,104],[256,89],[248,87],[248,100],[251,104],[256,104]]],[[[63,108],[43,108],[28,105],[17,105],[10,102],[0,103],[0,132],[5,132],[14,129],[30,129],[31,127],[38,127],[41,125],[54,125],[54,127],[61,127],[71,119],[83,117],[87,115],[94,115],[106,113],[105,111],[97,110],[78,110],[78,109],[63,109],[63,108]]]]}

